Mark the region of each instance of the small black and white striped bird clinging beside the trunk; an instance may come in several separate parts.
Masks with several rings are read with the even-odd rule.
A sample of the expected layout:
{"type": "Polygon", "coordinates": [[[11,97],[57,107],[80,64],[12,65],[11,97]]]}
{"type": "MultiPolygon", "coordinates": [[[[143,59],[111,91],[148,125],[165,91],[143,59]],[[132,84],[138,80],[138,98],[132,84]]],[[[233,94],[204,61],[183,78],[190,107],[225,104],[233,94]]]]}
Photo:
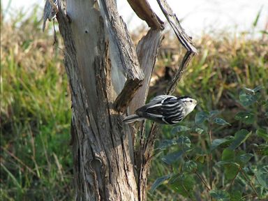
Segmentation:
{"type": "Polygon", "coordinates": [[[151,119],[161,124],[177,124],[195,109],[198,101],[189,96],[161,95],[151,99],[149,103],[138,108],[135,114],[123,119],[125,124],[134,121],[151,119]]]}

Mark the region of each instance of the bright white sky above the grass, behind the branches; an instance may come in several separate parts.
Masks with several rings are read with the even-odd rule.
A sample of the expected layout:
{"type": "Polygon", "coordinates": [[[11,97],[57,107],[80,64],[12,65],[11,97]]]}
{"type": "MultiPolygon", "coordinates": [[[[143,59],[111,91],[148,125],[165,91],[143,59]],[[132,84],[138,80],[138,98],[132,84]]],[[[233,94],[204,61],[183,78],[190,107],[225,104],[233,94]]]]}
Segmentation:
{"type": "MultiPolygon", "coordinates": [[[[165,21],[156,0],[148,0],[156,14],[165,21]]],[[[258,30],[264,30],[268,23],[268,1],[267,0],[167,0],[176,13],[181,25],[191,35],[200,35],[210,30],[236,30],[248,31],[261,10],[258,30]]],[[[9,0],[3,0],[2,9],[5,11],[9,0]]],[[[9,15],[14,15],[15,10],[23,8],[30,12],[31,6],[37,3],[43,7],[44,0],[10,0],[9,15]]],[[[128,29],[135,31],[141,24],[140,20],[128,5],[126,0],[117,1],[119,14],[122,15],[128,29]]],[[[41,9],[40,9],[41,10],[41,9]]]]}

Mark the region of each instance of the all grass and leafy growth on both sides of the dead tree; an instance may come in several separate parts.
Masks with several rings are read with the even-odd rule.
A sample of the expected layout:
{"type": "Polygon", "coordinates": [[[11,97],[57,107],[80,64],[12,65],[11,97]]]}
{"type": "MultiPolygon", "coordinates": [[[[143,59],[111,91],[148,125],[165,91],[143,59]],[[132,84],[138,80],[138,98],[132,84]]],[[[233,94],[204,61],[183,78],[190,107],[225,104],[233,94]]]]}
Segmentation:
{"type": "MultiPolygon", "coordinates": [[[[52,27],[47,30],[35,14],[1,19],[1,200],[72,200],[63,45],[53,46],[52,27]]],[[[149,200],[267,196],[268,37],[254,34],[211,33],[195,40],[200,54],[175,94],[191,95],[200,105],[179,126],[161,127],[149,200]]],[[[161,77],[164,67],[172,77],[179,65],[181,48],[167,38],[150,96],[170,79],[161,77]]]]}

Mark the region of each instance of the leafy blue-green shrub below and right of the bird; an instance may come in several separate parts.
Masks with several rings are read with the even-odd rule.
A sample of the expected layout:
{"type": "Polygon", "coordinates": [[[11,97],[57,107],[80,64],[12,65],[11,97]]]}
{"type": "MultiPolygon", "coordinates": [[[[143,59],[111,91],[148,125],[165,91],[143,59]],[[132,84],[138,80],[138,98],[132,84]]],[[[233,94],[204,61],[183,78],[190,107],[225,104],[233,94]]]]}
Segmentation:
{"type": "MultiPolygon", "coordinates": [[[[172,167],[169,177],[164,177],[165,185],[174,193],[190,200],[195,200],[197,189],[204,200],[268,198],[268,166],[265,165],[268,163],[267,126],[262,125],[264,127],[258,129],[248,126],[256,124],[260,115],[252,110],[255,105],[260,107],[260,111],[265,111],[263,107],[266,107],[266,103],[260,104],[260,94],[264,88],[244,89],[239,94],[239,102],[243,106],[241,108],[245,107],[248,112],[239,111],[233,116],[234,120],[230,121],[232,125],[242,124],[247,129],[243,126],[230,129],[232,125],[218,117],[221,114],[218,110],[200,111],[195,114],[191,128],[177,126],[172,129],[172,133],[179,136],[159,144],[158,148],[163,151],[162,160],[172,167]],[[195,132],[197,128],[202,129],[202,132],[195,132]],[[232,135],[213,140],[216,133],[224,131],[232,135]],[[191,142],[194,139],[188,136],[193,134],[204,139],[205,143],[200,144],[202,147],[191,142]],[[262,157],[261,160],[258,157],[262,157]]],[[[156,184],[159,188],[163,182],[156,179],[154,191],[156,184]]]]}

